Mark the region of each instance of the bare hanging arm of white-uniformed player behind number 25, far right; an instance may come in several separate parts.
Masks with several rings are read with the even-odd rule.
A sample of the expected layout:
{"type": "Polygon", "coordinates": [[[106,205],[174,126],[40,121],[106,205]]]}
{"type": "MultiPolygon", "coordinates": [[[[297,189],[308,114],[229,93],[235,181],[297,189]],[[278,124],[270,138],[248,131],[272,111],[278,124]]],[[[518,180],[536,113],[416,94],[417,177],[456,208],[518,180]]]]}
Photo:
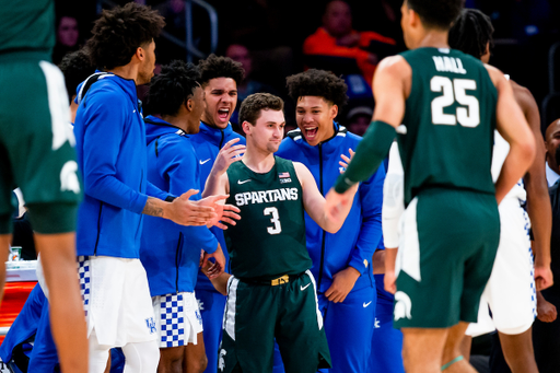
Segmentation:
{"type": "Polygon", "coordinates": [[[542,290],[552,285],[552,272],[550,270],[552,209],[548,195],[545,162],[542,162],[546,158],[545,140],[540,132],[540,116],[535,98],[526,88],[513,81],[511,83],[515,101],[521,106],[536,140],[535,161],[523,177],[523,182],[527,190],[527,212],[535,237],[532,245],[535,254],[535,282],[537,290],[542,290]]]}

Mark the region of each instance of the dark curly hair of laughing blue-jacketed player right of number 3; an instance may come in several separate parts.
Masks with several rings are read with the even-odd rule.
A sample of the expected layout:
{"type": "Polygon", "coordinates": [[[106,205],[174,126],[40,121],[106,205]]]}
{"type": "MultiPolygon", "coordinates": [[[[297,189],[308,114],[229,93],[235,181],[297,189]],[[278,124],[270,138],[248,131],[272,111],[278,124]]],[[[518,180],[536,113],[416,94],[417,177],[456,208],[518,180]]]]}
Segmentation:
{"type": "Polygon", "coordinates": [[[285,82],[288,94],[295,102],[303,96],[318,96],[339,108],[348,102],[345,80],[325,70],[310,69],[288,77],[285,82]]]}

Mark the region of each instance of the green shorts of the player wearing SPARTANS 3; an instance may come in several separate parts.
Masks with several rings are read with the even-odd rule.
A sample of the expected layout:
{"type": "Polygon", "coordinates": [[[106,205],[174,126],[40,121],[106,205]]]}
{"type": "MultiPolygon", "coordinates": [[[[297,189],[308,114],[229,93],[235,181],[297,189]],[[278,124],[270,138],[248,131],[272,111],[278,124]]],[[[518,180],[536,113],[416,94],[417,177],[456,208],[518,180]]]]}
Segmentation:
{"type": "Polygon", "coordinates": [[[228,282],[219,372],[272,372],[275,338],[287,373],[330,368],[311,271],[278,285],[228,282]]]}

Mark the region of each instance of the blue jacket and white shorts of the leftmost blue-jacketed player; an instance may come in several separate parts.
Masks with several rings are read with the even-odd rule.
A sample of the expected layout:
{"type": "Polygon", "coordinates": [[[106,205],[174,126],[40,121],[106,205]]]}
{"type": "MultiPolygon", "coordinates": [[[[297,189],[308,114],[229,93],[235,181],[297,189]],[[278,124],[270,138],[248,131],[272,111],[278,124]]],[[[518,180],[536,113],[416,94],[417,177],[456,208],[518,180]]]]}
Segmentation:
{"type": "Polygon", "coordinates": [[[167,194],[147,179],[145,128],[138,103],[133,80],[106,74],[82,96],[75,116],[84,183],[77,230],[80,281],[90,346],[103,354],[98,361],[90,359],[91,370],[106,361],[105,347],[156,339],[140,263],[141,213],[148,196],[165,199],[167,194]]]}

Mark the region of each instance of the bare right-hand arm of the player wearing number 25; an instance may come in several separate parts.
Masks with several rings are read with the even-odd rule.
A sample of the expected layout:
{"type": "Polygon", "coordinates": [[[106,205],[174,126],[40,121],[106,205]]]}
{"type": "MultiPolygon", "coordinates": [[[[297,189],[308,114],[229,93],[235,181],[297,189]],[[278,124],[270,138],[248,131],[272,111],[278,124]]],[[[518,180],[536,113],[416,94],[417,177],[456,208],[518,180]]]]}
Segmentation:
{"type": "Polygon", "coordinates": [[[510,143],[510,152],[495,182],[495,199],[500,203],[533,164],[536,152],[535,137],[520,105],[515,102],[510,82],[500,70],[488,65],[486,68],[498,90],[497,129],[510,143]]]}

